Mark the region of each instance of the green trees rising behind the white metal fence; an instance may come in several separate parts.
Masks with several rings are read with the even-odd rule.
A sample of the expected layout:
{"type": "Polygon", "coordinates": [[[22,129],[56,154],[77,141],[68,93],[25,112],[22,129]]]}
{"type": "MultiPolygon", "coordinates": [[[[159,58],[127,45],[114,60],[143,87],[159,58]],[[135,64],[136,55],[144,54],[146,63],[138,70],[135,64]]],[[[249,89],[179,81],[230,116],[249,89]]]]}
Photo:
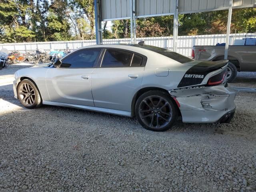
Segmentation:
{"type": "MultiPolygon", "coordinates": [[[[228,10],[179,15],[179,35],[224,34],[228,10]]],[[[130,20],[103,24],[103,38],[129,38],[130,20]]],[[[173,16],[137,19],[137,36],[172,36],[173,16]]],[[[235,9],[231,32],[256,32],[256,8],[235,9]]],[[[94,0],[0,0],[0,42],[95,38],[94,0]]]]}

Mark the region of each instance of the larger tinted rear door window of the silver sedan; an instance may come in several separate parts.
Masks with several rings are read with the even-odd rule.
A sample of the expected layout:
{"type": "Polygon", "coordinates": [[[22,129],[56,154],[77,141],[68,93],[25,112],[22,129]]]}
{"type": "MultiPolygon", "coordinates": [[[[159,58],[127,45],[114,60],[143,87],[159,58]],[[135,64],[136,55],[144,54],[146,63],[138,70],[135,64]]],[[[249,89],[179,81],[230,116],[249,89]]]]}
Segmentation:
{"type": "Polygon", "coordinates": [[[102,60],[102,67],[128,67],[132,59],[132,53],[107,49],[102,60]]]}

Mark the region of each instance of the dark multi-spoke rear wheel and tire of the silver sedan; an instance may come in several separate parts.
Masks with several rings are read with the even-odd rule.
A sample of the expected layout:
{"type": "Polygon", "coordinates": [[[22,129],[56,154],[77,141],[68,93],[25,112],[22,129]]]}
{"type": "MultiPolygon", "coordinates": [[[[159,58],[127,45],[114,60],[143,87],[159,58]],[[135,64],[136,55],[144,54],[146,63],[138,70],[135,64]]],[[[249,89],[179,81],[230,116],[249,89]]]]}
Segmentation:
{"type": "Polygon", "coordinates": [[[138,122],[152,131],[166,131],[177,119],[177,108],[166,92],[151,90],[142,94],[135,104],[138,122]]]}

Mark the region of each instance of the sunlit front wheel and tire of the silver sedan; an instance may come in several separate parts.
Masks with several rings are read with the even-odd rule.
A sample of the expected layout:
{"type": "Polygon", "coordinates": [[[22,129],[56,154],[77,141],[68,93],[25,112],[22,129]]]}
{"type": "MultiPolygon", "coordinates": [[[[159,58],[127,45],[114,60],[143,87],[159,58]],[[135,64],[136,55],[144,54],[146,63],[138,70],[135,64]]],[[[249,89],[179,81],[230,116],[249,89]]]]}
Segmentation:
{"type": "Polygon", "coordinates": [[[32,109],[42,105],[42,98],[38,88],[28,79],[24,79],[20,82],[17,93],[20,103],[26,108],[32,109]]]}

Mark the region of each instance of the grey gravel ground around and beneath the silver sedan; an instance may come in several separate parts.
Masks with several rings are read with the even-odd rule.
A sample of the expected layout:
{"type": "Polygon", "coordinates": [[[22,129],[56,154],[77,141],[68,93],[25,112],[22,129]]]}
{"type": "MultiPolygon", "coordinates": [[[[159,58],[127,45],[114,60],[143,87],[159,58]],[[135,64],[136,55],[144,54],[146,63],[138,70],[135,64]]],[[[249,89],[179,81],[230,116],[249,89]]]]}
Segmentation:
{"type": "Polygon", "coordinates": [[[135,118],[22,107],[11,83],[24,67],[0,70],[0,191],[256,191],[255,94],[238,93],[230,124],[152,132],[135,118]]]}

